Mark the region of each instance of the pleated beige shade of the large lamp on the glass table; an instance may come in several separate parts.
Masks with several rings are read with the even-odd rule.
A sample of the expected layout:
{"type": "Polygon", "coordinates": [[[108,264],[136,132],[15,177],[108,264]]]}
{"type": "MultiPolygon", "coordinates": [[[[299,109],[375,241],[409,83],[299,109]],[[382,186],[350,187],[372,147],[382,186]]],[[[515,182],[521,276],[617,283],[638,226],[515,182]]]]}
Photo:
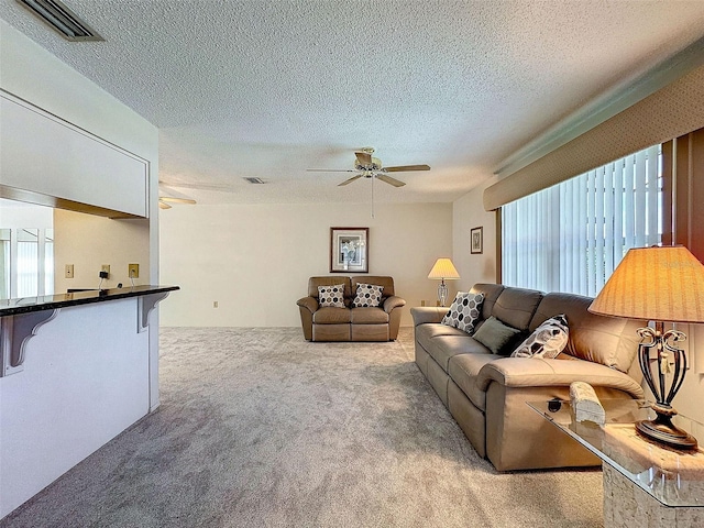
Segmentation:
{"type": "Polygon", "coordinates": [[[588,310],[649,321],[704,322],[704,265],[683,245],[629,250],[588,310]]]}

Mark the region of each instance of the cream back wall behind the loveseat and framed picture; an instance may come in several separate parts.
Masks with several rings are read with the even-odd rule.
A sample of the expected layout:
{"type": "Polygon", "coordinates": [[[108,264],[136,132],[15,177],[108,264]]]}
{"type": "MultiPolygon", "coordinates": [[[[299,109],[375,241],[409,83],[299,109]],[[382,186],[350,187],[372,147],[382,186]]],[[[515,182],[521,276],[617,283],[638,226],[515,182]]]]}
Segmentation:
{"type": "Polygon", "coordinates": [[[308,278],[330,275],[331,227],[370,228],[370,274],[394,277],[402,324],[411,306],[435,305],[427,277],[452,253],[451,204],[378,205],[374,219],[344,204],[174,206],[161,217],[161,276],[182,290],[161,306],[161,323],[299,326],[308,278]]]}

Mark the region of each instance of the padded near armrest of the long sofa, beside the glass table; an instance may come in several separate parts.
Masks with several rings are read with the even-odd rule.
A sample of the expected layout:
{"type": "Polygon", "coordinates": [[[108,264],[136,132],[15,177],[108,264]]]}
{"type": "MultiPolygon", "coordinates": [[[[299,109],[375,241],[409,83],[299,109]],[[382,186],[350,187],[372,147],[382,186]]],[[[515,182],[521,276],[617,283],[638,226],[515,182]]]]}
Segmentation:
{"type": "Polygon", "coordinates": [[[590,361],[503,358],[485,364],[476,376],[477,387],[487,391],[492,382],[506,387],[569,386],[586,382],[594,387],[616,388],[642,398],[642,388],[628,374],[590,361]]]}

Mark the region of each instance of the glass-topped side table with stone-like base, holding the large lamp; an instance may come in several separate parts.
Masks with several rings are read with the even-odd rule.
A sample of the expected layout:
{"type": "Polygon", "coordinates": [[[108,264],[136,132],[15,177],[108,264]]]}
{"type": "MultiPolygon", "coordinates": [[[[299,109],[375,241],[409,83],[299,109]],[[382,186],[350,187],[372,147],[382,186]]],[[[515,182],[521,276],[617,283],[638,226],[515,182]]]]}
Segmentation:
{"type": "MultiPolygon", "coordinates": [[[[605,528],[704,526],[704,450],[679,452],[641,438],[635,422],[652,419],[650,404],[603,399],[606,424],[576,422],[570,402],[528,402],[600,459],[605,528]]],[[[704,438],[704,425],[682,415],[676,426],[704,438]]]]}

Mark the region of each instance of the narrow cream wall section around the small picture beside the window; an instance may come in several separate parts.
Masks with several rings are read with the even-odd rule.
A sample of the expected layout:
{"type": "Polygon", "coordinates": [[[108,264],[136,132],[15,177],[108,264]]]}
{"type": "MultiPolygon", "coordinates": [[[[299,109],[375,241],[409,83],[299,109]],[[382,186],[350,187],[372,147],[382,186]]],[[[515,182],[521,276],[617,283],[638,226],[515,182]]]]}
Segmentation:
{"type": "Polygon", "coordinates": [[[486,212],[482,204],[484,189],[495,182],[495,177],[490,178],[452,207],[452,262],[460,273],[458,288],[462,292],[476,283],[496,282],[496,213],[486,212]],[[484,228],[484,251],[472,254],[470,231],[479,227],[484,228]]]}

